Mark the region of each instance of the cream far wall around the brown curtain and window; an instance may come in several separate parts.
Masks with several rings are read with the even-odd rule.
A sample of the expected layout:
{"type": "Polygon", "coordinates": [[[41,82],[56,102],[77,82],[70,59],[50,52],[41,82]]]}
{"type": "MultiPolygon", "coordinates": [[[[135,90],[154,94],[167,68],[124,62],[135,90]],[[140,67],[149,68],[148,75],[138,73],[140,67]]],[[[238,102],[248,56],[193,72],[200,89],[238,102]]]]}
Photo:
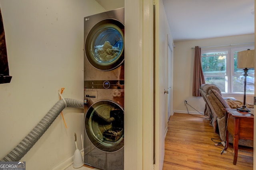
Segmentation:
{"type": "MultiPolygon", "coordinates": [[[[192,96],[194,49],[191,49],[191,47],[207,47],[250,42],[254,42],[254,34],[175,42],[173,80],[175,99],[173,101],[174,112],[187,113],[184,100],[201,113],[204,112],[205,102],[202,97],[192,96]]],[[[225,97],[226,95],[223,96],[225,97]]],[[[243,94],[228,96],[243,101],[243,94]]],[[[253,103],[253,95],[247,95],[246,102],[253,103]]],[[[188,109],[191,113],[196,113],[194,109],[190,107],[188,107],[188,109]]]]}

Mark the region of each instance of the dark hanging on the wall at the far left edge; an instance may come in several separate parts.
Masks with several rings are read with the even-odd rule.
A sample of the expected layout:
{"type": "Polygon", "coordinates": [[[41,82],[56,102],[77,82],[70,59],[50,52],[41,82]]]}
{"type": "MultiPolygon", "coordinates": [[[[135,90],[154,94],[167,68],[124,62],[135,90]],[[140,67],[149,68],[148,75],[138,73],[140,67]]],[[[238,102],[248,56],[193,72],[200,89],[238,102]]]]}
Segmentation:
{"type": "Polygon", "coordinates": [[[2,19],[2,12],[0,9],[0,84],[10,83],[12,76],[9,75],[6,41],[4,35],[4,24],[2,19]]]}

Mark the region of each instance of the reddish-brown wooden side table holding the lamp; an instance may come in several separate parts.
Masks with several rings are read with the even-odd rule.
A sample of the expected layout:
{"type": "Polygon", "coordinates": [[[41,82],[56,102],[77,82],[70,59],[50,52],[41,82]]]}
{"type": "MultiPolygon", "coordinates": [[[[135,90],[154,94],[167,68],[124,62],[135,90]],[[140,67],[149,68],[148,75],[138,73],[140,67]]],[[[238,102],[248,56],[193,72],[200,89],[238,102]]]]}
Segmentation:
{"type": "Polygon", "coordinates": [[[236,164],[238,154],[238,140],[249,139],[253,140],[253,123],[254,116],[250,113],[241,113],[234,109],[226,111],[226,147],[228,148],[228,132],[233,135],[233,146],[234,146],[234,160],[233,164],[236,164]]]}

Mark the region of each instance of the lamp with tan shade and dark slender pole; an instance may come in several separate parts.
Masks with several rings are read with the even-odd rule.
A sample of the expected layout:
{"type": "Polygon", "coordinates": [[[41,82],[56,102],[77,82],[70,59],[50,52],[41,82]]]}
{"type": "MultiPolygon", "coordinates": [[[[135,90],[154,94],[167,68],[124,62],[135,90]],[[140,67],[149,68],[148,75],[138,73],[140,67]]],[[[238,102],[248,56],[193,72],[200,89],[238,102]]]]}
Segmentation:
{"type": "Polygon", "coordinates": [[[240,51],[237,53],[237,68],[244,70],[244,105],[238,108],[238,111],[249,112],[250,109],[246,108],[246,77],[249,68],[254,68],[254,50],[240,51]]]}

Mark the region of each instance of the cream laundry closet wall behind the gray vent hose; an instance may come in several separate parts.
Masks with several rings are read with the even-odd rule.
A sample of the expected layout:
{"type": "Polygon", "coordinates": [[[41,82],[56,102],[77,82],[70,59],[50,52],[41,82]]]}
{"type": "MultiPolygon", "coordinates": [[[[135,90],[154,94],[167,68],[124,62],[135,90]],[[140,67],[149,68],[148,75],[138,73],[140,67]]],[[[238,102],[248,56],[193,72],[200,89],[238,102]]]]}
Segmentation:
{"type": "MultiPolygon", "coordinates": [[[[12,80],[0,84],[0,159],[64,98],[83,100],[84,17],[106,11],[95,0],[0,0],[12,80]]],[[[72,162],[83,109],[63,111],[22,158],[27,170],[63,169],[72,162]],[[62,164],[62,162],[66,162],[62,164]]],[[[81,141],[78,140],[81,149],[81,141]]]]}

